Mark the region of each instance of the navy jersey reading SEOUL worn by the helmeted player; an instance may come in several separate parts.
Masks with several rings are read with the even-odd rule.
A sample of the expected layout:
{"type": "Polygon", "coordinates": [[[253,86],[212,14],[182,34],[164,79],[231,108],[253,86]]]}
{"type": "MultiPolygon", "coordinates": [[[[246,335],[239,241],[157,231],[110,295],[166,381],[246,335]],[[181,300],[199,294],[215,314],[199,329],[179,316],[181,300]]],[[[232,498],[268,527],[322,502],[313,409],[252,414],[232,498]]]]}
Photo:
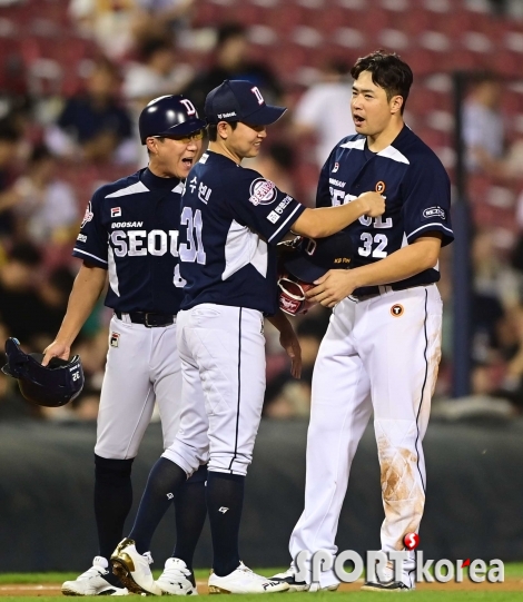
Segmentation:
{"type": "Polygon", "coordinates": [[[108,307],[178,312],[182,190],[179,179],[159,178],[146,168],[98,188],[92,196],[72,255],[108,269],[108,307]]]}

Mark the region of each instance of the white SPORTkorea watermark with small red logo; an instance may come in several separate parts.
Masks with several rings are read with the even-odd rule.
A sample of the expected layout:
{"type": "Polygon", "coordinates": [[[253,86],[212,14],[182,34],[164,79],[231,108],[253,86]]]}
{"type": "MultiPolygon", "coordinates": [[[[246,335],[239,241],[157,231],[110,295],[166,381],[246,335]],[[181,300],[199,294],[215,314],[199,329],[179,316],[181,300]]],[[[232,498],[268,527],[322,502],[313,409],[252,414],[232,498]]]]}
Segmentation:
{"type": "MultiPolygon", "coordinates": [[[[420,544],[420,536],[416,533],[408,533],[404,539],[407,550],[393,551],[385,554],[381,551],[368,551],[365,560],[354,550],[345,550],[333,556],[326,550],[318,550],[314,554],[303,550],[296,555],[296,581],[319,582],[320,573],[333,571],[336,578],[343,583],[353,583],[362,579],[365,571],[365,579],[369,582],[391,581],[391,570],[394,581],[402,581],[402,569],[404,563],[413,564],[412,551],[420,544]],[[345,566],[351,563],[352,571],[345,566]],[[309,578],[309,579],[307,579],[309,578]]],[[[502,583],[505,580],[505,565],[499,560],[484,561],[481,559],[465,560],[431,560],[424,559],[422,551],[414,552],[414,581],[416,583],[463,583],[467,579],[474,583],[482,583],[485,580],[490,583],[502,583]]]]}

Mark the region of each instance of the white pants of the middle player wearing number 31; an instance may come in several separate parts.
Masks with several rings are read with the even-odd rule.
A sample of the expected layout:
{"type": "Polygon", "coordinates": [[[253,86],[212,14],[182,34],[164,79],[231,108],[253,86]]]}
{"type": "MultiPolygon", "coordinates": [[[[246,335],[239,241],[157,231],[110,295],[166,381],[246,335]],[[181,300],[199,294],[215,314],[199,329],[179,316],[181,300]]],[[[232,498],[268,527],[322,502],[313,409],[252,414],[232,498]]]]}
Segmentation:
{"type": "Polygon", "coordinates": [[[164,457],[191,474],[247,474],[265,394],[260,312],[205,303],[178,314],[180,430],[164,457]]]}

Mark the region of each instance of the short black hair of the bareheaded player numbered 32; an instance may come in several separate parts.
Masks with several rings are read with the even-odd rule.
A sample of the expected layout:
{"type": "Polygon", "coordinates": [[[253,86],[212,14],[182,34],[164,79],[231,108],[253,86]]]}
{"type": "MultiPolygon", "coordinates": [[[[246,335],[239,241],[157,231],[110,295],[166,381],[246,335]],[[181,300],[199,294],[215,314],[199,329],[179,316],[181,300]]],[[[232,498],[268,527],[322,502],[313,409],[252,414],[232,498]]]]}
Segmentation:
{"type": "Polygon", "coordinates": [[[408,65],[395,52],[376,50],[366,57],[358,58],[351,69],[351,76],[357,79],[363,71],[372,73],[373,82],[385,90],[387,100],[391,100],[393,96],[403,97],[403,114],[414,80],[408,65]]]}

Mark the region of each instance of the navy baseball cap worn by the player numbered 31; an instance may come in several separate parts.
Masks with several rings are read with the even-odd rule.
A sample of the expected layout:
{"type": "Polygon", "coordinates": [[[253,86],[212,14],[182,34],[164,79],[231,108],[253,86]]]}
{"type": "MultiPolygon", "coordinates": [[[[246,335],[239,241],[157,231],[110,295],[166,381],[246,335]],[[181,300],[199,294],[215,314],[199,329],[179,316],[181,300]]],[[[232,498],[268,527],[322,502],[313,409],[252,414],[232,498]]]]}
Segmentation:
{"type": "Polygon", "coordinates": [[[226,79],[207,95],[205,117],[208,124],[243,121],[251,126],[268,126],[277,121],[286,107],[266,105],[262,92],[244,79],[226,79]]]}

